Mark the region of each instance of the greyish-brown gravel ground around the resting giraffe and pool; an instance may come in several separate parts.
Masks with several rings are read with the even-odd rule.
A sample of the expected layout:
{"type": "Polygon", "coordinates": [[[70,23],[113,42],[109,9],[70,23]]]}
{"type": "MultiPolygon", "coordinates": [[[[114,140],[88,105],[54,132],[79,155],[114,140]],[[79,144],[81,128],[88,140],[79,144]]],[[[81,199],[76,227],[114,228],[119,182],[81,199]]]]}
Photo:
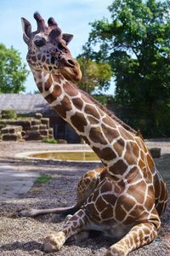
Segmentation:
{"type": "MultiPolygon", "coordinates": [[[[156,166],[167,181],[170,191],[170,143],[149,142],[149,147],[161,146],[161,158],[156,159],[156,166]]],[[[0,165],[8,164],[24,172],[38,172],[40,175],[51,175],[51,181],[43,185],[34,184],[26,195],[0,201],[0,255],[25,256],[45,255],[42,252],[42,241],[49,233],[59,230],[64,221],[61,214],[48,214],[37,218],[19,218],[17,211],[29,207],[65,207],[75,203],[78,179],[84,172],[99,164],[59,163],[53,160],[17,160],[16,153],[37,150],[54,150],[72,146],[51,145],[45,143],[4,143],[0,142],[0,165]]],[[[79,149],[84,146],[79,145],[79,149]]],[[[164,256],[170,255],[170,207],[161,218],[161,232],[156,240],[130,256],[164,256]]],[[[80,244],[65,244],[58,253],[48,255],[85,256],[104,255],[113,241],[100,235],[89,238],[80,244]]]]}

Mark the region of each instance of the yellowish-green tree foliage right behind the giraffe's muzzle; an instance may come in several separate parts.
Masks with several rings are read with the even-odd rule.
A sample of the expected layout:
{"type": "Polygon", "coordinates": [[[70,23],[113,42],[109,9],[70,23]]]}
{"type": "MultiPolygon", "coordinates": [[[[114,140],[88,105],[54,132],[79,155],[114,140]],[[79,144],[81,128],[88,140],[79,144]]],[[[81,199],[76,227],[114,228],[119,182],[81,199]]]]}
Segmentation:
{"type": "Polygon", "coordinates": [[[111,66],[103,61],[92,61],[89,55],[88,46],[83,48],[82,55],[77,57],[82,70],[82,79],[78,82],[78,87],[88,93],[102,92],[109,89],[111,84],[111,66]]]}

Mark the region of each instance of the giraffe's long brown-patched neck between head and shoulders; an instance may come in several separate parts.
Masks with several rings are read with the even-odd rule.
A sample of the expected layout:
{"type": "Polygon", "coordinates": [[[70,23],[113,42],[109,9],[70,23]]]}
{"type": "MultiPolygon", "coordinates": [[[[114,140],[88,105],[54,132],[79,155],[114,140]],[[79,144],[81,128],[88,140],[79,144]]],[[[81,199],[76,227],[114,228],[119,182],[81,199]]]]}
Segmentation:
{"type": "Polygon", "coordinates": [[[114,143],[123,143],[120,131],[125,129],[122,125],[61,74],[35,70],[32,73],[42,96],[54,110],[93,148],[105,166],[111,164],[119,154],[113,150],[114,143]]]}

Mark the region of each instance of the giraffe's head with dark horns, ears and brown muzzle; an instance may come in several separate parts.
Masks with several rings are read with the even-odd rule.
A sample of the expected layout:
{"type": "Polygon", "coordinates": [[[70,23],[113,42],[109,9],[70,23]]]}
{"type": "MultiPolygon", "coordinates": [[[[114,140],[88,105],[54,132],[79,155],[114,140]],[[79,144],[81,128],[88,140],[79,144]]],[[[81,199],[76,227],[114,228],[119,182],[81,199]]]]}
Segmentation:
{"type": "Polygon", "coordinates": [[[48,26],[38,13],[34,18],[37,20],[36,32],[31,32],[31,23],[21,18],[23,38],[28,45],[26,59],[31,69],[61,73],[65,79],[80,80],[80,67],[67,47],[73,36],[62,33],[54,18],[48,19],[48,26]]]}

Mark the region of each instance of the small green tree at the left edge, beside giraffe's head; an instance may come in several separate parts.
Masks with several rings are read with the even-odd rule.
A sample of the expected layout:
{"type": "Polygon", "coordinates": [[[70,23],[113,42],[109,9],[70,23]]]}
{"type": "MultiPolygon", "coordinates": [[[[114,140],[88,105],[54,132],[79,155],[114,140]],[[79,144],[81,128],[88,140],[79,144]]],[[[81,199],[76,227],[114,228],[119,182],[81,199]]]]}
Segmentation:
{"type": "Polygon", "coordinates": [[[0,93],[25,91],[24,82],[28,73],[19,51],[13,47],[7,49],[4,44],[0,44],[0,93]]]}

